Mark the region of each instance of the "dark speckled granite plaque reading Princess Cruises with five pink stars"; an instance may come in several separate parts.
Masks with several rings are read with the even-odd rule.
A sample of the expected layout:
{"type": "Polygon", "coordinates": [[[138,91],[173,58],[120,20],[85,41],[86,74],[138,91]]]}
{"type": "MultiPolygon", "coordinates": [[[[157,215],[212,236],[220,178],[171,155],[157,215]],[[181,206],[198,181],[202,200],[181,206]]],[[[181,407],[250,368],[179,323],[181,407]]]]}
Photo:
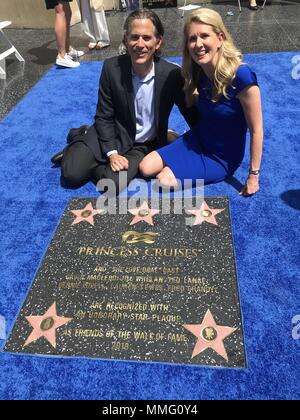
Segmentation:
{"type": "Polygon", "coordinates": [[[228,199],[169,204],[72,199],[4,351],[245,367],[228,199]]]}

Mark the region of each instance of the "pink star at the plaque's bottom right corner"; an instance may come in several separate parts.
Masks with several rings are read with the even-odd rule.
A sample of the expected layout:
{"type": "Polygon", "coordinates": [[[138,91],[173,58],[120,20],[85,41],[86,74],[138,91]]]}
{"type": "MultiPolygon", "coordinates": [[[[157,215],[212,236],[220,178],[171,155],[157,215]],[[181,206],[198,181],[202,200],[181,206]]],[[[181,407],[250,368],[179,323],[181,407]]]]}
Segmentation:
{"type": "Polygon", "coordinates": [[[228,362],[223,340],[236,331],[237,328],[217,325],[209,309],[201,324],[185,324],[183,327],[198,338],[192,358],[211,348],[228,362]]]}

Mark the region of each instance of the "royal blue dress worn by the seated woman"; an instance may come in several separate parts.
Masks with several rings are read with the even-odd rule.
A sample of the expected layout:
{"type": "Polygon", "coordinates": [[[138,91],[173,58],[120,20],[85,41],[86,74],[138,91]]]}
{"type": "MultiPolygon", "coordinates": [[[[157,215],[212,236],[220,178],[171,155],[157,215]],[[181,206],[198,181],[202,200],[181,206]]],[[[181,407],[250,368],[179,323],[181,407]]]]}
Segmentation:
{"type": "Polygon", "coordinates": [[[236,96],[247,86],[257,85],[256,74],[246,64],[237,70],[232,86],[212,102],[212,83],[204,76],[199,83],[199,122],[190,131],[157,152],[183,182],[204,179],[205,184],[223,181],[240,166],[246,145],[247,122],[236,96]]]}

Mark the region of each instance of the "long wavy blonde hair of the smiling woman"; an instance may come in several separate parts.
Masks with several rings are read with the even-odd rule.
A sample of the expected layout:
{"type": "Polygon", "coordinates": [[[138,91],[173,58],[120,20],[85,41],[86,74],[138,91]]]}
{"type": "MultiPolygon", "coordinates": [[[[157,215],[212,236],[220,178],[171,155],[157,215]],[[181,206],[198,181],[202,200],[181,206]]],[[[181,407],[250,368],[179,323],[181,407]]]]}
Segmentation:
{"type": "Polygon", "coordinates": [[[184,26],[182,74],[185,80],[184,92],[188,106],[192,106],[198,97],[198,83],[201,76],[204,75],[202,68],[194,62],[188,50],[189,31],[192,23],[209,25],[217,35],[223,34],[224,37],[215,68],[212,99],[218,101],[222,95],[227,97],[226,90],[232,84],[236,70],[242,63],[242,53],[234,45],[219,13],[212,9],[198,9],[194,11],[188,17],[184,26]]]}

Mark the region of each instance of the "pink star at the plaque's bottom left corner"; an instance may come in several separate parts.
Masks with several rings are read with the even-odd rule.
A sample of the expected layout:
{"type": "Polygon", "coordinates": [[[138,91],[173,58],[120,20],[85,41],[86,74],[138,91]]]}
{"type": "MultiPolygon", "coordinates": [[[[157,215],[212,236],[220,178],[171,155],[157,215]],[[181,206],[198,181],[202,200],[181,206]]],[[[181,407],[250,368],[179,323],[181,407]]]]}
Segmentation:
{"type": "Polygon", "coordinates": [[[73,318],[65,318],[57,315],[56,302],[48,309],[48,311],[42,316],[26,316],[25,317],[30,325],[33,327],[33,331],[27,338],[25,346],[30,343],[37,341],[41,337],[45,337],[49,341],[52,347],[56,348],[56,330],[68,322],[72,321],[73,318]]]}

